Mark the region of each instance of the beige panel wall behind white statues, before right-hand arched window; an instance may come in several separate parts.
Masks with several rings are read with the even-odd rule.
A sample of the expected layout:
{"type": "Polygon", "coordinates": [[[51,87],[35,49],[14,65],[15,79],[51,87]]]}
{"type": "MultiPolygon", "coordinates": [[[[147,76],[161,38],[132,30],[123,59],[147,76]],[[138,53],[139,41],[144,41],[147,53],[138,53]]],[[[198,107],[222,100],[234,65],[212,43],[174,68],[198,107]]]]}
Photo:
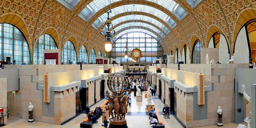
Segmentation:
{"type": "Polygon", "coordinates": [[[216,63],[219,61],[219,49],[218,48],[201,48],[201,64],[206,64],[206,54],[208,54],[208,56],[209,56],[209,62],[212,59],[214,59],[214,61],[216,63]]]}

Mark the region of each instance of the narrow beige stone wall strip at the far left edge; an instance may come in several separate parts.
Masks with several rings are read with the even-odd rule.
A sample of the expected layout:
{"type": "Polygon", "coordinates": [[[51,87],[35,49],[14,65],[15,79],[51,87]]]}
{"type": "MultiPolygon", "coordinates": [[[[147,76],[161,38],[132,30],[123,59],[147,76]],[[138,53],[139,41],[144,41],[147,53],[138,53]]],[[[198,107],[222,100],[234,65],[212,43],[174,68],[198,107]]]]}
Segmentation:
{"type": "MultiPolygon", "coordinates": [[[[0,78],[0,108],[2,107],[9,107],[7,106],[7,79],[6,78],[0,78]]],[[[5,110],[4,110],[5,111],[5,110]]],[[[5,114],[5,113],[3,113],[5,114]]],[[[4,124],[7,124],[7,116],[4,116],[4,124]]],[[[1,119],[2,123],[2,119],[1,119]]]]}

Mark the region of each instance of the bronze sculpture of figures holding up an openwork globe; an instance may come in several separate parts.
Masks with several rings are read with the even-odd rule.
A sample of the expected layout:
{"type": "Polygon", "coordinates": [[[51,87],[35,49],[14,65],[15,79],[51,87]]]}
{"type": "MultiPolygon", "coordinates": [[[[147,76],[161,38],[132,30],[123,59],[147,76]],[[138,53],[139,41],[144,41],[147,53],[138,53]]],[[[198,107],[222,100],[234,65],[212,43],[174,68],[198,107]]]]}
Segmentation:
{"type": "Polygon", "coordinates": [[[110,119],[109,128],[128,128],[126,124],[125,114],[127,112],[127,95],[124,95],[130,87],[130,82],[127,76],[120,72],[116,72],[108,77],[108,88],[112,92],[107,94],[108,101],[110,103],[109,112],[112,118],[110,119]],[[114,110],[114,115],[113,111],[114,110]],[[116,116],[117,115],[117,116],[116,116]]]}

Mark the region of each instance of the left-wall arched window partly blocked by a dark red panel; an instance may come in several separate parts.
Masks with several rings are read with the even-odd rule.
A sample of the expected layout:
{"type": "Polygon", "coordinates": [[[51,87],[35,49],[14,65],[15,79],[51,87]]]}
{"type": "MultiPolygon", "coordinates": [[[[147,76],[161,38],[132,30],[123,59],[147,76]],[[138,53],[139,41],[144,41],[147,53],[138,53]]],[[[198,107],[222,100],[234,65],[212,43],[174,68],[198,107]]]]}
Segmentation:
{"type": "Polygon", "coordinates": [[[34,50],[34,63],[38,64],[40,60],[44,64],[44,50],[45,49],[58,49],[56,42],[52,36],[43,34],[39,37],[34,50]]]}

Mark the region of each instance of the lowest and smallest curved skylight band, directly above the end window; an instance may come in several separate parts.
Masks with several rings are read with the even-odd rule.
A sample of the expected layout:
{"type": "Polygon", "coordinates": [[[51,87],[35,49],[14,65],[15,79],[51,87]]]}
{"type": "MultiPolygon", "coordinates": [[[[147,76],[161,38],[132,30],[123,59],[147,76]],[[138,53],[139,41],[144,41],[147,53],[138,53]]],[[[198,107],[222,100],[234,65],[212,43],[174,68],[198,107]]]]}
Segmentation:
{"type": "Polygon", "coordinates": [[[116,42],[116,40],[117,40],[119,37],[121,37],[121,36],[123,36],[123,35],[125,35],[125,34],[128,34],[128,33],[132,33],[132,32],[142,32],[142,33],[149,34],[150,36],[154,37],[158,42],[161,42],[161,39],[160,39],[158,36],[156,36],[156,34],[150,32],[150,31],[148,31],[148,30],[144,30],[144,29],[140,29],[140,28],[132,28],[132,29],[124,30],[124,31],[122,31],[122,32],[120,32],[120,33],[118,33],[118,34],[116,34],[116,35],[114,36],[114,38],[112,39],[112,41],[113,41],[113,42],[116,42]]]}

